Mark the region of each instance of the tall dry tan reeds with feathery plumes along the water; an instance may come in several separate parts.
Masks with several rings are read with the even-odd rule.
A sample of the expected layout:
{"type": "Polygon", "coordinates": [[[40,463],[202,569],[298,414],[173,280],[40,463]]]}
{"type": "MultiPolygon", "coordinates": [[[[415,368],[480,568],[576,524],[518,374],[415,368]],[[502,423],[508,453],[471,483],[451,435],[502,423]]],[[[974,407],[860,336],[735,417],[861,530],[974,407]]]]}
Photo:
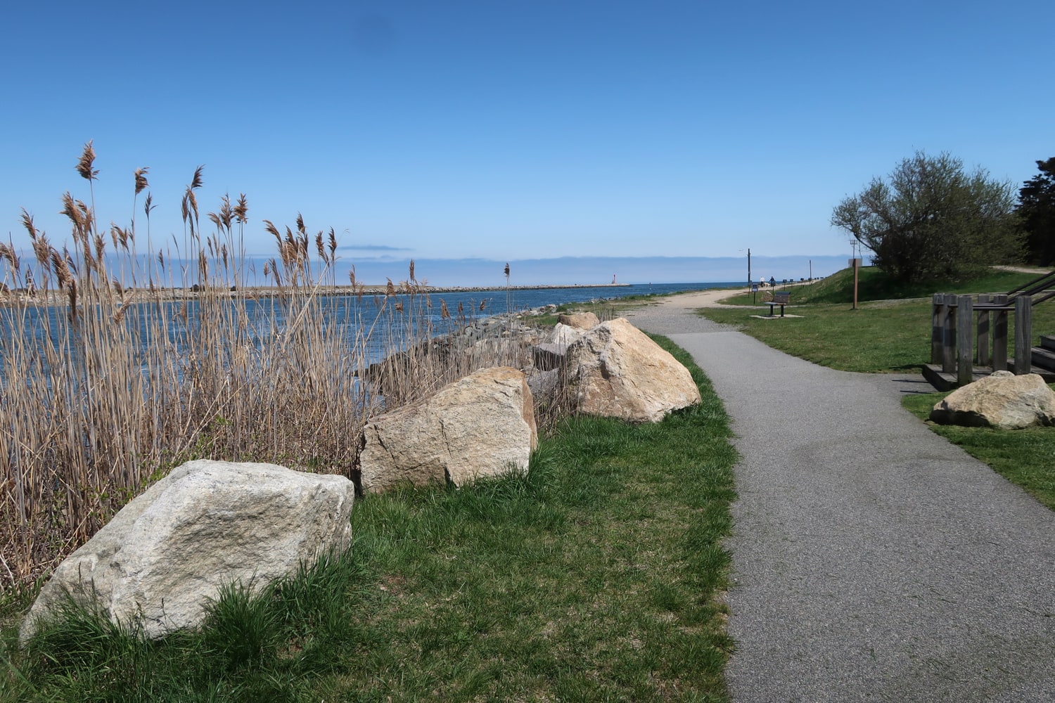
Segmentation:
{"type": "MultiPolygon", "coordinates": [[[[76,170],[92,182],[92,143],[76,170]]],[[[133,212],[149,189],[134,176],[133,212]]],[[[62,196],[72,245],[23,211],[32,256],[0,243],[0,591],[49,572],[153,480],[189,458],[274,462],[350,475],[363,424],[523,349],[463,343],[456,316],[410,265],[385,295],[337,288],[337,239],[264,228],[276,255],[267,290],[247,289],[245,195],[225,195],[203,230],[199,168],[181,199],[183,243],[139,246],[135,215],[100,231],[94,201],[62,196]],[[371,309],[371,307],[373,309],[371,309]],[[429,341],[438,332],[448,341],[429,341]],[[360,380],[399,353],[383,385],[360,380]]],[[[90,191],[91,192],[91,191],[90,191]]],[[[150,231],[154,209],[142,212],[150,231]]],[[[353,269],[352,269],[353,271],[353,269]]],[[[471,316],[471,315],[469,315],[471,316]]],[[[380,380],[380,378],[379,378],[380,380]]]]}

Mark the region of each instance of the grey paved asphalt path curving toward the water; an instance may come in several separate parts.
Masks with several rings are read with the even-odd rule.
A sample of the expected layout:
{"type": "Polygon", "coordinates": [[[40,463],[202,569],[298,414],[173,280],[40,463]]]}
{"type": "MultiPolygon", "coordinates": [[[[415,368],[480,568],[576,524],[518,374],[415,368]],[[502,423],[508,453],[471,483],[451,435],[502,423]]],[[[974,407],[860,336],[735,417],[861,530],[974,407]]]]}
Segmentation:
{"type": "Polygon", "coordinates": [[[1055,513],[901,408],[929,386],[685,304],[627,317],[692,354],[738,437],[733,701],[1055,701],[1055,513]]]}

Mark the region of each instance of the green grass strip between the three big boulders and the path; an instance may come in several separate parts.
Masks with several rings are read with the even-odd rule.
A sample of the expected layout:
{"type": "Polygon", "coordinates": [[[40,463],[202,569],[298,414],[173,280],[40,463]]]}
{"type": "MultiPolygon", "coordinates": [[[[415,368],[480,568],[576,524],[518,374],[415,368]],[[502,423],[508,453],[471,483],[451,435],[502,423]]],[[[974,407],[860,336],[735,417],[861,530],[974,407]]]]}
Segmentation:
{"type": "Polygon", "coordinates": [[[0,700],[725,701],[735,451],[709,383],[660,424],[574,417],[531,471],[363,500],[350,556],[202,632],[147,643],[68,613],[0,700]]]}

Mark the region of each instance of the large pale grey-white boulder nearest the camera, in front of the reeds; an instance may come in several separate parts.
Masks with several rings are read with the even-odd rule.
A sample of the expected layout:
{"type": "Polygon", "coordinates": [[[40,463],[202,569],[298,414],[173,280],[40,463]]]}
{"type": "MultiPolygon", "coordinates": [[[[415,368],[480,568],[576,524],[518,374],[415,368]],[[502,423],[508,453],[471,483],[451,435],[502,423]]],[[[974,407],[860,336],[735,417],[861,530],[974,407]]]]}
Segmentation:
{"type": "Polygon", "coordinates": [[[354,485],[274,464],[188,462],[124,506],[44,585],[22,625],[66,598],[149,638],[194,627],[220,588],[251,588],[350,544],[354,485]]]}

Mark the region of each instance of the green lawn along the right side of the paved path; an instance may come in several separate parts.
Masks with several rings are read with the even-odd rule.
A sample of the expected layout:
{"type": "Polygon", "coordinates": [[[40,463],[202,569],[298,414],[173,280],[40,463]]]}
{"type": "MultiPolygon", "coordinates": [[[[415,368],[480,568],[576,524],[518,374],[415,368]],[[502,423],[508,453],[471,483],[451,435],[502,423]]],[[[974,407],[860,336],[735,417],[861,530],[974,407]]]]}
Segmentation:
{"type": "MultiPolygon", "coordinates": [[[[816,284],[789,289],[791,301],[802,307],[788,308],[787,313],[801,317],[751,317],[767,314],[768,307],[715,308],[702,310],[701,314],[735,325],[771,347],[822,366],[865,373],[914,373],[931,358],[932,293],[1006,292],[1035,277],[1028,273],[992,272],[970,280],[899,286],[881,271],[866,268],[860,272],[859,309],[852,310],[852,272],[845,270],[816,284]]],[[[725,301],[750,306],[752,300],[748,294],[725,301]]],[[[1009,327],[1013,344],[1014,320],[1010,320],[1009,327]]],[[[1055,332],[1055,302],[1034,309],[1033,329],[1034,344],[1039,344],[1040,334],[1055,332]]],[[[1009,349],[1008,354],[1013,355],[1014,350],[1009,349]]],[[[945,395],[909,395],[904,405],[926,421],[931,408],[945,395]]],[[[934,424],[931,427],[1055,509],[1055,430],[1004,432],[934,424]]]]}

